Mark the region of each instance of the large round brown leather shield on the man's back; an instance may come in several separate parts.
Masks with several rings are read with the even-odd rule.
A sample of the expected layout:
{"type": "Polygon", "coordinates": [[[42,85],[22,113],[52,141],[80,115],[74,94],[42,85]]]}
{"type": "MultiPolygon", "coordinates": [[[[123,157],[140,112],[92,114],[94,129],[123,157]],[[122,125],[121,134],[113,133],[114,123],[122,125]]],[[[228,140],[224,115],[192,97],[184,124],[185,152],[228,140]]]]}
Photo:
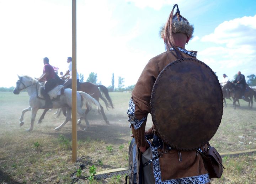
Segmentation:
{"type": "Polygon", "coordinates": [[[223,114],[223,94],[209,66],[182,58],[160,72],[150,106],[153,124],[165,144],[191,151],[216,133],[223,114]]]}

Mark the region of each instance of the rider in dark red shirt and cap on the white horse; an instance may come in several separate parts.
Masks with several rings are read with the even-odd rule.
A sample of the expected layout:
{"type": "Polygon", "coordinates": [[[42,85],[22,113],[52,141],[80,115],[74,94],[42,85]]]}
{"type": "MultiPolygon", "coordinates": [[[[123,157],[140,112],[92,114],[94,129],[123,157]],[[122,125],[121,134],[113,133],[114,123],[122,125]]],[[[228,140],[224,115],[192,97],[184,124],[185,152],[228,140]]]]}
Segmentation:
{"type": "Polygon", "coordinates": [[[52,108],[52,101],[49,97],[48,92],[52,90],[56,85],[57,81],[55,80],[55,72],[53,67],[49,64],[48,58],[43,58],[44,68],[43,74],[38,78],[39,82],[44,82],[42,95],[46,100],[46,104],[41,108],[52,108]]]}

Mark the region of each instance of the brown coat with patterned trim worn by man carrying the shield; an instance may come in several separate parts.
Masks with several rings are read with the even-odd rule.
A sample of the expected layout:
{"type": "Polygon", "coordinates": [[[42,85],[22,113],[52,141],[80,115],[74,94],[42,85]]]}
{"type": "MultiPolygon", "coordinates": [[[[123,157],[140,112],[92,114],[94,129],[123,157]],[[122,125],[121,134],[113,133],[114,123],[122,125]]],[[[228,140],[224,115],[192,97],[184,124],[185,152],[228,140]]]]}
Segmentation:
{"type": "MultiPolygon", "coordinates": [[[[197,52],[187,51],[182,48],[179,48],[179,50],[184,58],[196,57],[197,52]]],[[[171,50],[150,59],[132,92],[128,115],[138,147],[146,145],[144,132],[146,117],[148,113],[150,113],[150,98],[153,85],[161,70],[172,61],[177,60],[174,54],[175,51],[171,50]]],[[[154,125],[149,131],[157,134],[154,125]]],[[[154,150],[154,148],[151,148],[151,151],[152,150],[154,150]]],[[[161,149],[156,148],[152,154],[154,156],[154,154],[161,151],[161,149]]],[[[210,182],[208,172],[204,168],[202,157],[197,154],[197,151],[182,151],[181,158],[182,161],[179,161],[177,150],[170,150],[157,159],[156,162],[153,162],[153,172],[156,183],[161,183],[162,181],[175,182],[177,179],[184,180],[184,183],[185,181],[191,180],[195,182],[203,181],[202,183],[210,182]]]]}

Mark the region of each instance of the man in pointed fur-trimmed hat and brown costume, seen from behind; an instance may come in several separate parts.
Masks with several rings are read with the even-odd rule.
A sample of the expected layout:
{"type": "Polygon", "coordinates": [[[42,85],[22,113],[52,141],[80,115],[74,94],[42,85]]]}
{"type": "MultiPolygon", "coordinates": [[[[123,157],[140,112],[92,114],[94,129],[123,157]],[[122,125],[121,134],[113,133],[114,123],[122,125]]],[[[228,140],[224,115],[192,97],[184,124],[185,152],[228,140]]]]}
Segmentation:
{"type": "MultiPolygon", "coordinates": [[[[164,39],[166,52],[149,60],[132,91],[132,97],[129,101],[128,121],[130,122],[132,137],[134,137],[135,144],[138,147],[137,175],[134,176],[136,178],[130,179],[129,183],[210,183],[203,159],[200,154],[197,154],[196,150],[179,152],[170,149],[158,158],[154,157],[153,159],[152,150],[154,145],[144,138],[146,134],[158,136],[154,124],[149,130],[145,130],[148,114],[151,113],[150,98],[156,78],[165,66],[172,61],[181,58],[196,58],[197,56],[196,51],[185,49],[186,44],[193,37],[194,27],[186,18],[180,15],[178,6],[177,12],[173,15],[176,6],[174,5],[165,26],[160,31],[160,35],[164,39]],[[142,157],[138,157],[141,154],[142,157]],[[143,169],[139,169],[141,165],[143,165],[143,169]],[[144,177],[139,177],[140,172],[144,174],[144,177]]],[[[158,142],[161,146],[159,137],[158,142]]],[[[164,147],[163,143],[162,145],[164,147]]],[[[161,150],[160,147],[156,145],[155,147],[158,151],[161,150]]]]}

